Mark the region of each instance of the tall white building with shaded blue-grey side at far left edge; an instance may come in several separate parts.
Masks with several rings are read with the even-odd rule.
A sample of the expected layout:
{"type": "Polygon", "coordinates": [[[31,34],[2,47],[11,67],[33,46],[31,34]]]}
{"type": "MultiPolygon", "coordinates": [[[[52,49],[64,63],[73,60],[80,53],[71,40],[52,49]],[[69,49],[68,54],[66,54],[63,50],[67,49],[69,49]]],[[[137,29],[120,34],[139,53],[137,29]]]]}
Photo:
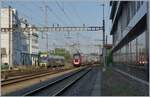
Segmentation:
{"type": "Polygon", "coordinates": [[[21,64],[21,34],[19,32],[19,18],[13,8],[0,9],[0,27],[16,28],[16,31],[1,32],[1,63],[13,65],[21,64]]]}

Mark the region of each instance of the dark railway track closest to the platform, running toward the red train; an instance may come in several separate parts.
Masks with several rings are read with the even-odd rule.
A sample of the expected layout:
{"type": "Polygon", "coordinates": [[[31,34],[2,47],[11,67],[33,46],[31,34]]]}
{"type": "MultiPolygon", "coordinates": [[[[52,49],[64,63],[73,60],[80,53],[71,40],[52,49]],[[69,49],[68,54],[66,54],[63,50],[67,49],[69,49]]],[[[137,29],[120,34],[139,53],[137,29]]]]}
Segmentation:
{"type": "Polygon", "coordinates": [[[44,86],[26,92],[25,94],[23,94],[23,96],[59,96],[66,89],[68,89],[79,79],[81,79],[84,75],[86,75],[90,70],[91,67],[77,70],[76,72],[68,74],[67,76],[61,79],[57,79],[44,86]]]}

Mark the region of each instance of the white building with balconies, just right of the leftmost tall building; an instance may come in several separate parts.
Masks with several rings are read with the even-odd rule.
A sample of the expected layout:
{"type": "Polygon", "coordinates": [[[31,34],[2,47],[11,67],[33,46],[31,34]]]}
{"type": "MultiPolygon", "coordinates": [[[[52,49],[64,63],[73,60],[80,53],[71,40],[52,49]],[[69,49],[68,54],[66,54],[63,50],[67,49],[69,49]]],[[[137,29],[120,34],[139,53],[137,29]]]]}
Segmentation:
{"type": "MultiPolygon", "coordinates": [[[[20,19],[21,28],[32,27],[27,20],[20,19]]],[[[38,65],[38,34],[33,31],[22,32],[22,64],[38,65]]]]}

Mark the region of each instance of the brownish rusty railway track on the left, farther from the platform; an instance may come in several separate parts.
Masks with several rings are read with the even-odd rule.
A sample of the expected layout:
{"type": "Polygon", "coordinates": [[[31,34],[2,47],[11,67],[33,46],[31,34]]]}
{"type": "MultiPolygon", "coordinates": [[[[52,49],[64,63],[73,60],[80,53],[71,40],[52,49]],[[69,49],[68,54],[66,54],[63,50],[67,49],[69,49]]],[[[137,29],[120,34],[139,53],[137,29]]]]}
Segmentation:
{"type": "Polygon", "coordinates": [[[38,77],[42,77],[42,76],[46,76],[46,75],[50,75],[50,74],[55,74],[58,72],[63,72],[66,71],[68,69],[62,69],[62,70],[57,70],[57,71],[46,71],[46,72],[40,72],[40,73],[34,73],[34,74],[27,74],[27,75],[23,75],[23,76],[17,76],[14,78],[10,78],[10,79],[6,79],[6,80],[1,80],[1,87],[6,86],[6,85],[10,85],[13,83],[17,83],[17,82],[22,82],[22,81],[26,81],[26,80],[30,80],[30,79],[34,79],[34,78],[38,78],[38,77]]]}

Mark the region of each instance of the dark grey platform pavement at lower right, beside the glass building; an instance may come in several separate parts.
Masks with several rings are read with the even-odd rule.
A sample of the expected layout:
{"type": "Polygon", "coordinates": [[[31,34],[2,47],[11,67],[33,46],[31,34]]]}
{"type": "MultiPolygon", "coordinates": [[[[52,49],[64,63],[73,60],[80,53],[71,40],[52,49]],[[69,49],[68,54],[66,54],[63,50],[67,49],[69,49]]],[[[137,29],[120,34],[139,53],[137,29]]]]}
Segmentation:
{"type": "Polygon", "coordinates": [[[148,96],[148,84],[121,70],[108,67],[102,72],[102,96],[148,96]]]}

